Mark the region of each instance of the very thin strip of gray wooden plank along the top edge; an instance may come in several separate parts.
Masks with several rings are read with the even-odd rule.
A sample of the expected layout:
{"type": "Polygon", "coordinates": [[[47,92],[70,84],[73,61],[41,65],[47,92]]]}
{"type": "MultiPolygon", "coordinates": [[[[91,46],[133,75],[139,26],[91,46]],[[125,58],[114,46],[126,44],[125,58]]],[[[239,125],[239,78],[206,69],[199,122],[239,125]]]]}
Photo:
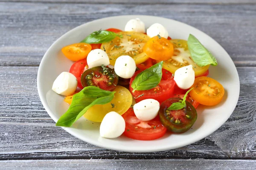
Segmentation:
{"type": "Polygon", "coordinates": [[[39,3],[120,3],[120,4],[255,4],[255,0],[0,0],[3,2],[39,3]]]}

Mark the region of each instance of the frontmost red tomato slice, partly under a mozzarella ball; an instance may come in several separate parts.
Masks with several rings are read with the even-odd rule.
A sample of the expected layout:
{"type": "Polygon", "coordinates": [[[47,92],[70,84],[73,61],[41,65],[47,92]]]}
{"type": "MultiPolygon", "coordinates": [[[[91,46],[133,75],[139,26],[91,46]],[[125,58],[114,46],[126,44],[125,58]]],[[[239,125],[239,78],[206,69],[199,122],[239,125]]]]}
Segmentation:
{"type": "Polygon", "coordinates": [[[122,115],[125,119],[125,136],[136,140],[154,140],[166,133],[166,128],[161,124],[159,116],[150,121],[139,120],[132,108],[122,115]]]}

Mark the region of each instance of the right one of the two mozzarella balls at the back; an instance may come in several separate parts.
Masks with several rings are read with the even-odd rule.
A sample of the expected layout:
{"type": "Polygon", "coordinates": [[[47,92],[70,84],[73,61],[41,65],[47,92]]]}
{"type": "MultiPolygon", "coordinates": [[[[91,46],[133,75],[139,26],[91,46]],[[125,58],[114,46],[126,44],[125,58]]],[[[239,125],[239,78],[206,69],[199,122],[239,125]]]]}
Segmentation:
{"type": "Polygon", "coordinates": [[[153,25],[151,25],[147,29],[147,35],[151,38],[157,35],[160,35],[161,37],[164,37],[164,38],[168,38],[169,36],[166,28],[159,23],[154,23],[153,25]]]}

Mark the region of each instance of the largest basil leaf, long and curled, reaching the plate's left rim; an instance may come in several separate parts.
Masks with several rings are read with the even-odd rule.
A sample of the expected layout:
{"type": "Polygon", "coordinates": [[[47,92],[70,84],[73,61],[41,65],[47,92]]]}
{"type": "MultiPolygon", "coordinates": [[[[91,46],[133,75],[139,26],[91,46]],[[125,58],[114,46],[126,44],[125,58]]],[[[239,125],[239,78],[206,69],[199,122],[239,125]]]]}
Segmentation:
{"type": "Polygon", "coordinates": [[[73,96],[70,108],[64,113],[56,126],[70,127],[93,105],[111,102],[115,91],[105,91],[95,86],[87,86],[73,96]]]}

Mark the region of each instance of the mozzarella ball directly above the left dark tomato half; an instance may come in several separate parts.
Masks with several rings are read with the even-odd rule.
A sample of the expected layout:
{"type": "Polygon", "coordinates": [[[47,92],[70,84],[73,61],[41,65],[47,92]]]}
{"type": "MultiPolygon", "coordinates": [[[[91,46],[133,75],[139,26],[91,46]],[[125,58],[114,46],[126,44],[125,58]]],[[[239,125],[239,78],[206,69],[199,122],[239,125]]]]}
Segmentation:
{"type": "Polygon", "coordinates": [[[89,68],[101,65],[107,66],[110,64],[108,54],[101,49],[92,50],[87,56],[87,64],[89,68]]]}

